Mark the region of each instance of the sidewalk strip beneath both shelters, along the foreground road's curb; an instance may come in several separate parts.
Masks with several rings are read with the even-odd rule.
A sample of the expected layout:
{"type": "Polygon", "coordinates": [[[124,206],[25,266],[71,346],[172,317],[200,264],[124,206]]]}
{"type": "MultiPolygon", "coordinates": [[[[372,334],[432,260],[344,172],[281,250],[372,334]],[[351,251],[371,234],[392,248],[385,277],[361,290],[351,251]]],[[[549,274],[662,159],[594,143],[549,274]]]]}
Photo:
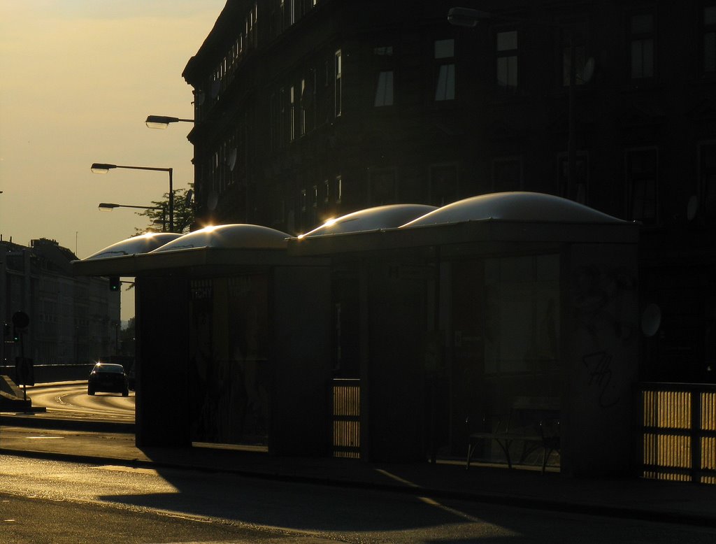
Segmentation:
{"type": "MultiPolygon", "coordinates": [[[[43,414],[44,415],[44,414],[43,414]]],[[[129,432],[107,432],[75,422],[64,429],[43,417],[27,427],[24,418],[2,414],[0,454],[71,462],[232,472],[287,482],[373,488],[434,499],[606,515],[716,528],[716,485],[657,480],[582,480],[463,462],[372,465],[359,460],[275,457],[265,452],[195,446],[138,448],[129,432]],[[47,422],[43,429],[42,422],[47,422]],[[39,427],[38,427],[39,425],[39,427]],[[94,430],[89,430],[94,429],[94,430]]],[[[126,427],[125,427],[126,428],[126,427]]],[[[122,429],[119,425],[114,429],[122,429]]]]}

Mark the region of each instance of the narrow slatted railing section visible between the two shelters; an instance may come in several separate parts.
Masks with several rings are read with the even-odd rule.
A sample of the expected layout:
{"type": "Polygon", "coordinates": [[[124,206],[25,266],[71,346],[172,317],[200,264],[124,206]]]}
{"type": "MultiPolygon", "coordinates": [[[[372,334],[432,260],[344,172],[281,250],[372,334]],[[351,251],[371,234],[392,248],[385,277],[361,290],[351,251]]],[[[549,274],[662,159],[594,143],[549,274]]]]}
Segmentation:
{"type": "Polygon", "coordinates": [[[333,457],[360,458],[360,380],[334,379],[333,457]]]}

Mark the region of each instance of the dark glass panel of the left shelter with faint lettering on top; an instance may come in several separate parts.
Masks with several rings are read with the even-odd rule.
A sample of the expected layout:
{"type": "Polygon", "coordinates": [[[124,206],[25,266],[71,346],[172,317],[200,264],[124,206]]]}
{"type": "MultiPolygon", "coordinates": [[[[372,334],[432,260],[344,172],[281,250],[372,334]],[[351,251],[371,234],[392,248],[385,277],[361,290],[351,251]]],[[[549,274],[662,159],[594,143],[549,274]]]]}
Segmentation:
{"type": "Polygon", "coordinates": [[[258,274],[192,283],[194,442],[268,445],[267,289],[258,274]]]}

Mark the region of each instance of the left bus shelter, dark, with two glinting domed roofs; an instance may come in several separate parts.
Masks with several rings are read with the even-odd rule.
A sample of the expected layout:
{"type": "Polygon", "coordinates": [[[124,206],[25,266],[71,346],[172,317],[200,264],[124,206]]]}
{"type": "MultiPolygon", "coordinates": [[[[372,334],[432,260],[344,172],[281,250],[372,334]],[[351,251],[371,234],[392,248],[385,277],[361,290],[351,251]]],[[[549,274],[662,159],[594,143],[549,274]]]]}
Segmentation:
{"type": "Polygon", "coordinates": [[[135,278],[137,445],[324,455],[329,321],[310,309],[329,304],[329,268],[289,258],[288,237],[221,225],[74,261],[77,275],[135,278]]]}

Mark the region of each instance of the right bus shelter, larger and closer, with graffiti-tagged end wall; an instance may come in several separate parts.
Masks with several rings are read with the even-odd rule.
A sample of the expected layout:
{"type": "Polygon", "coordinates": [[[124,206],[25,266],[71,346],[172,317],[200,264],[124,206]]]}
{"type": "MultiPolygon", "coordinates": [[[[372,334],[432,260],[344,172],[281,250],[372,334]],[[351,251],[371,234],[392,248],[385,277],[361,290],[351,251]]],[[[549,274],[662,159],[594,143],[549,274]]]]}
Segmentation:
{"type": "MultiPolygon", "coordinates": [[[[551,399],[551,462],[627,472],[638,232],[553,195],[495,193],[399,228],[289,239],[291,257],[329,259],[332,307],[350,316],[334,316],[333,365],[359,380],[361,457],[464,459],[470,422],[551,399]]],[[[484,442],[478,457],[504,459],[484,442]]]]}

